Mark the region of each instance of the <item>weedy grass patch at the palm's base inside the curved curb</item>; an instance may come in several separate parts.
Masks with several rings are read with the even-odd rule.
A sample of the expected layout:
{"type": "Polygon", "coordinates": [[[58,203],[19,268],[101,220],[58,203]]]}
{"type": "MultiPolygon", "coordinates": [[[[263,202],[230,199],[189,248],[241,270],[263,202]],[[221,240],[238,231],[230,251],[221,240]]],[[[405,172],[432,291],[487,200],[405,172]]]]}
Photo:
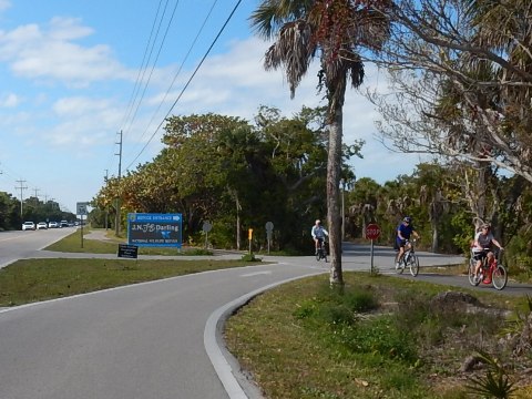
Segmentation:
{"type": "MultiPolygon", "coordinates": [[[[229,351],[266,398],[460,399],[470,393],[459,372],[467,356],[482,347],[511,360],[498,344],[503,316],[432,303],[452,287],[361,273],[345,279],[342,291],[323,276],[283,285],[227,321],[229,351]]],[[[525,306],[497,294],[479,298],[487,309],[525,306]]],[[[520,367],[526,362],[530,355],[520,367]]],[[[521,388],[515,398],[530,393],[521,388]]]]}

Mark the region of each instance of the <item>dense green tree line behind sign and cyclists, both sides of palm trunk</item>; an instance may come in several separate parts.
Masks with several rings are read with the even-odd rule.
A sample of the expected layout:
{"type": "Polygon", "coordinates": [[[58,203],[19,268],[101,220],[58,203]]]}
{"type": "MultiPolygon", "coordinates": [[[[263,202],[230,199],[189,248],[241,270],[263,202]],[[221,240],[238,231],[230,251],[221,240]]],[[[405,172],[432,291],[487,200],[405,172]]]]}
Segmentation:
{"type": "MultiPolygon", "coordinates": [[[[161,153],[120,180],[109,178],[89,221],[103,226],[106,214],[114,228],[120,197],[122,229],[130,212],[181,213],[184,244],[203,245],[202,226],[208,221],[214,247],[246,249],[247,229],[253,228],[253,247],[259,250],[267,246],[265,225],[272,222],[272,250],[309,254],[310,227],[327,212],[325,119],[321,108],[303,108],[286,117],[266,106],[253,123],[218,114],[172,116],[161,153]]],[[[531,193],[522,176],[434,161],[379,184],[357,178],[349,166],[352,156],[362,156],[362,147],[364,142],[342,147],[346,239],[364,239],[367,224],[378,223],[382,234],[377,244],[391,246],[397,225],[409,215],[422,236],[421,247],[468,254],[482,221],[493,224],[511,265],[530,267],[532,209],[525,204],[531,193]],[[481,175],[485,192],[479,206],[481,197],[471,187],[481,175]]]]}

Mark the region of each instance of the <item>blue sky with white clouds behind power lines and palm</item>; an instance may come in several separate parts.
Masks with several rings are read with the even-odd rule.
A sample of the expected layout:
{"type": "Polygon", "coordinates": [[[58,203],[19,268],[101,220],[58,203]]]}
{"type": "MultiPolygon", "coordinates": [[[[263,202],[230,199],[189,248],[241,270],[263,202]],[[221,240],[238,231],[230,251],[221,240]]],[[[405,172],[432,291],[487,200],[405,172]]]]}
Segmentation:
{"type": "MultiPolygon", "coordinates": [[[[236,3],[0,0],[0,191],[75,212],[117,175],[119,132],[124,175],[158,153],[168,113],[252,120],[260,105],[286,116],[317,106],[315,70],[294,100],[280,71],[264,71],[268,43],[247,20],[257,0],[242,1],[183,91],[236,3]]],[[[385,82],[367,66],[366,88],[385,82]]],[[[379,183],[410,174],[419,158],[386,150],[376,119],[364,96],[347,94],[344,141],[366,141],[355,174],[379,183]]]]}

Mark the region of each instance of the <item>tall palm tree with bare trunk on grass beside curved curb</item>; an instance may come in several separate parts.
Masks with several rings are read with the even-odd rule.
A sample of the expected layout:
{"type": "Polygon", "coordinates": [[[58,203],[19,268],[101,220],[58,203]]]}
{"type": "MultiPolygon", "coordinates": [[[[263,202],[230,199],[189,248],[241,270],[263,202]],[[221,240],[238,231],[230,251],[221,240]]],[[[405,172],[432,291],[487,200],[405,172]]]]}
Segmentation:
{"type": "MultiPolygon", "coordinates": [[[[252,25],[274,40],[265,55],[265,69],[283,69],[291,98],[311,61],[320,62],[319,88],[328,102],[327,223],[331,284],[344,284],[339,182],[342,143],[342,108],[347,83],[364,80],[360,49],[378,50],[388,37],[389,23],[375,12],[374,1],[263,0],[250,16],[252,25]]],[[[382,7],[382,1],[378,1],[382,7]]]]}

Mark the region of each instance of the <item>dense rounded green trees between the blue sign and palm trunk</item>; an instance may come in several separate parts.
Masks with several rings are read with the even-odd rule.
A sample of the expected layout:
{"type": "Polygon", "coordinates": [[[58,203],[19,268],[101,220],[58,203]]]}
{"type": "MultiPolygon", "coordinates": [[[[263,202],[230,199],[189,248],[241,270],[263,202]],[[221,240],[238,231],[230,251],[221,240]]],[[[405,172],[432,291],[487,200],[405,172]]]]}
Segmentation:
{"type": "MultiPolygon", "coordinates": [[[[256,125],[212,113],[172,116],[161,154],[120,182],[108,180],[95,203],[111,216],[119,195],[123,214],[182,213],[183,236],[197,243],[209,221],[209,243],[222,248],[237,246],[237,222],[242,232],[254,228],[256,246],[264,248],[264,226],[273,222],[273,247],[300,252],[311,243],[316,215],[327,213],[325,114],[323,108],[303,108],[287,119],[263,106],[256,125]]],[[[346,149],[346,161],[359,149],[346,149]]]]}

